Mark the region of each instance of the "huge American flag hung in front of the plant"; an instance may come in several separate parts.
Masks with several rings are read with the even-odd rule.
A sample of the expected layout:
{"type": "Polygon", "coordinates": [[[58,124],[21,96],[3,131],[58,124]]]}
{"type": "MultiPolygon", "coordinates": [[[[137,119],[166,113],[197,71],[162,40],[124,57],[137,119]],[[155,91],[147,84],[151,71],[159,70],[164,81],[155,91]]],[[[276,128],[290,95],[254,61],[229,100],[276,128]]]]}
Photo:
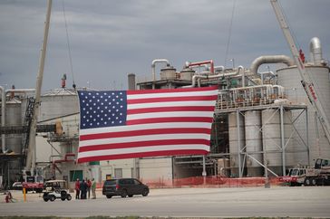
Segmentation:
{"type": "Polygon", "coordinates": [[[218,89],[78,91],[78,163],[209,153],[218,89]]]}

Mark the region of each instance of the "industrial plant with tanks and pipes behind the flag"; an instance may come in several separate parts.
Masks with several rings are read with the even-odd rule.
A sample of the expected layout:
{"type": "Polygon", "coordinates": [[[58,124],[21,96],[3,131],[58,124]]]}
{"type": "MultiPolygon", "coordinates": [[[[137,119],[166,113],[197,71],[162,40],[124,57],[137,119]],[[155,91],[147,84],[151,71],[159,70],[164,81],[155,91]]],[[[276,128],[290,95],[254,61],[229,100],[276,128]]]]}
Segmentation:
{"type": "MultiPolygon", "coordinates": [[[[329,67],[317,38],[310,42],[304,63],[326,116],[330,118],[329,67]]],[[[315,109],[306,96],[294,60],[286,55],[260,56],[248,68],[225,69],[212,60],[186,62],[177,71],[170,61],[151,63],[150,81],[135,81],[130,90],[218,86],[209,155],[148,157],[76,164],[79,142],[77,90],[50,90],[41,96],[36,126],[34,173],[73,184],[76,178],[136,176],[145,182],[169,185],[189,176],[284,176],[290,167],[313,165],[317,157],[330,157],[330,148],[315,109]],[[259,71],[263,64],[278,63],[277,71],[259,71]],[[156,66],[160,72],[156,72],[156,66]],[[204,162],[203,162],[204,161],[204,162]],[[204,164],[204,168],[203,168],[204,164]],[[267,172],[266,172],[267,169],[267,172]]],[[[3,186],[21,180],[34,90],[1,90],[1,169],[3,186]]]]}

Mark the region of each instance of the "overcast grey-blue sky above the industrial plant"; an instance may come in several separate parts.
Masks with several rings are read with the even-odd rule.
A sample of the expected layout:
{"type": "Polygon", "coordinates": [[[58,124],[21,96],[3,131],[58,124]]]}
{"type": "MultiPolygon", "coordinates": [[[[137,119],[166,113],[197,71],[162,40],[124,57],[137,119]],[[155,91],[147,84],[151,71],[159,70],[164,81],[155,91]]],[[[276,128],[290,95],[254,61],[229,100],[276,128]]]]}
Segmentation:
{"type": "MultiPolygon", "coordinates": [[[[160,58],[180,71],[187,61],[212,59],[230,68],[230,59],[249,67],[261,55],[291,56],[268,0],[236,0],[231,20],[233,5],[233,0],[53,0],[43,90],[59,88],[63,73],[68,87],[74,78],[78,87],[126,90],[129,72],[137,80],[151,79],[150,64],[160,58]]],[[[330,1],[281,5],[306,59],[310,39],[317,36],[329,60],[330,1]]],[[[0,0],[0,86],[35,87],[45,14],[45,0],[0,0]]]]}

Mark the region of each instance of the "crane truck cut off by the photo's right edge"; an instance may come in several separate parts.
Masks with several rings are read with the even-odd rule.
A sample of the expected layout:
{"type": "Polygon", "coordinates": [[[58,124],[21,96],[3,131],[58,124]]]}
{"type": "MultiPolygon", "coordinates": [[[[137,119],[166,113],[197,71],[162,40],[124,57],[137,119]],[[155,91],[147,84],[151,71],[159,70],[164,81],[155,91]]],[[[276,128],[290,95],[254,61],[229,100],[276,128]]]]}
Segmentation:
{"type": "Polygon", "coordinates": [[[317,158],[314,168],[306,169],[305,186],[330,186],[330,159],[317,158]]]}

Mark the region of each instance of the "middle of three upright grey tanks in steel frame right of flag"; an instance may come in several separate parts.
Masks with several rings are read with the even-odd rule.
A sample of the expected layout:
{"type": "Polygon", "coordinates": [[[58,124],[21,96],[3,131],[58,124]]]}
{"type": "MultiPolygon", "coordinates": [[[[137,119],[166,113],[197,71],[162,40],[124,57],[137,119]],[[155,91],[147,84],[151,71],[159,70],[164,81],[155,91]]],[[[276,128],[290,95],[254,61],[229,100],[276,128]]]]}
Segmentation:
{"type": "MultiPolygon", "coordinates": [[[[261,132],[261,112],[257,110],[245,113],[245,140],[248,155],[263,163],[262,153],[262,132],[261,132]]],[[[247,157],[248,176],[262,176],[263,167],[257,161],[247,157]]]]}

